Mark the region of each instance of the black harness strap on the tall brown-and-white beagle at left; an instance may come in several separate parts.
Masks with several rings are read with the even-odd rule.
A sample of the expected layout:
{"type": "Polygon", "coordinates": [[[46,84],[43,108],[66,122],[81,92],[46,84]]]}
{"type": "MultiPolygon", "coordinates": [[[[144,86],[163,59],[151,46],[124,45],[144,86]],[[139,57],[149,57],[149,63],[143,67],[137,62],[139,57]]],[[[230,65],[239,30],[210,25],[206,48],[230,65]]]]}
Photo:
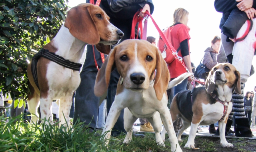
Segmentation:
{"type": "Polygon", "coordinates": [[[42,48],[37,54],[34,55],[32,58],[31,63],[31,71],[34,78],[34,82],[36,83],[37,88],[40,90],[38,85],[38,77],[37,77],[37,62],[40,57],[47,58],[48,60],[51,60],[52,62],[55,62],[57,64],[60,64],[61,66],[64,66],[65,68],[69,68],[72,70],[80,71],[82,64],[71,62],[70,60],[66,60],[61,56],[58,56],[52,52],[49,52],[49,50],[42,48]]]}

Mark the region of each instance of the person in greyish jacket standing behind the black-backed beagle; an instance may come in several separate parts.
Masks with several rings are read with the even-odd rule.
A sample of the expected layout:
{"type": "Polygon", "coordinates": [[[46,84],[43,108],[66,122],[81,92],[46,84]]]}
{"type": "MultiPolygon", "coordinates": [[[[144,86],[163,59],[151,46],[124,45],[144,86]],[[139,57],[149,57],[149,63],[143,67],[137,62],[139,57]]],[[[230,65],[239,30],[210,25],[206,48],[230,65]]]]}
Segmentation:
{"type": "MultiPolygon", "coordinates": [[[[219,36],[214,36],[212,39],[211,47],[206,48],[204,51],[203,64],[206,65],[206,67],[210,70],[212,70],[212,68],[218,64],[216,61],[216,56],[220,50],[220,40],[221,39],[219,36]]],[[[216,133],[214,124],[210,124],[209,133],[216,133]]]]}

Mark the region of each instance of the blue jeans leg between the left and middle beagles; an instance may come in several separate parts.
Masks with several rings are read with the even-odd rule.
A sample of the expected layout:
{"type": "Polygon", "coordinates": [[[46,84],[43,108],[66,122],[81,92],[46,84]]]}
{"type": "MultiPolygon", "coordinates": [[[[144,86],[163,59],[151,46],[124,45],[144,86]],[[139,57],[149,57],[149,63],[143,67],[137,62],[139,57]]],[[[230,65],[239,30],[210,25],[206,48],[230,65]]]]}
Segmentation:
{"type": "MultiPolygon", "coordinates": [[[[95,58],[99,68],[102,66],[100,52],[95,50],[95,58]]],[[[80,73],[81,83],[75,94],[74,122],[80,119],[90,128],[95,128],[97,123],[100,98],[94,95],[94,83],[97,75],[97,68],[94,62],[92,45],[87,45],[86,59],[80,73]]]]}

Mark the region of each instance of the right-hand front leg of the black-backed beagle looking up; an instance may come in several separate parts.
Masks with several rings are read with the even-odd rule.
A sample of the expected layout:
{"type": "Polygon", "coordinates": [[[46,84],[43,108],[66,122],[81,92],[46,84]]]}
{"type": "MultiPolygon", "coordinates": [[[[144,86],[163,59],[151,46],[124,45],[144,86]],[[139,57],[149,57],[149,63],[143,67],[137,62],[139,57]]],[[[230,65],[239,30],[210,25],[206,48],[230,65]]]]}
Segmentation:
{"type": "Polygon", "coordinates": [[[219,130],[220,130],[220,145],[222,147],[233,148],[234,146],[227,142],[225,137],[226,124],[228,121],[228,116],[226,116],[225,120],[219,121],[219,130]]]}

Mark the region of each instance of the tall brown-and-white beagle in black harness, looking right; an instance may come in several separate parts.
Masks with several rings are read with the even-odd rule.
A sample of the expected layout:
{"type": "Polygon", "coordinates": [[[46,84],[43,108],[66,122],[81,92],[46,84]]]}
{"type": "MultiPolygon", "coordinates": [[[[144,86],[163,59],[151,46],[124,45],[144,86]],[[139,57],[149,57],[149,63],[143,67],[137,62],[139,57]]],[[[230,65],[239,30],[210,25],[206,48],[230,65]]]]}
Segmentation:
{"type": "MultiPolygon", "coordinates": [[[[117,44],[123,35],[121,30],[109,22],[109,17],[100,7],[88,3],[79,4],[68,11],[59,32],[43,48],[66,60],[79,63],[87,44],[96,44],[100,52],[108,54],[110,45],[117,44]]],[[[28,94],[28,109],[35,114],[32,115],[31,122],[38,120],[37,108],[40,104],[41,118],[52,123],[52,100],[60,99],[59,120],[61,124],[65,124],[68,122],[72,95],[80,84],[79,71],[41,57],[38,59],[37,75],[40,90],[34,82],[29,64],[28,86],[31,93],[28,94]]]]}

